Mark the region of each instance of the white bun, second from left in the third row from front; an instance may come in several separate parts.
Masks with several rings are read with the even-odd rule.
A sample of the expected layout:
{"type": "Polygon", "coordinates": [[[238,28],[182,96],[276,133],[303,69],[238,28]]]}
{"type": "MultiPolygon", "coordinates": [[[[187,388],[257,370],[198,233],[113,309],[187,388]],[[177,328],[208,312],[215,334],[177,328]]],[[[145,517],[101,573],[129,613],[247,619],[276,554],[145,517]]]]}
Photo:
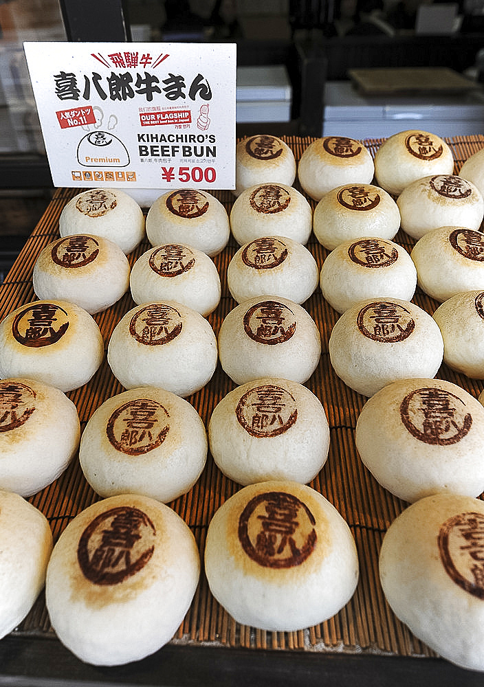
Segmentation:
{"type": "Polygon", "coordinates": [[[212,379],[217,338],[208,320],[188,306],[145,303],[115,326],[107,361],[125,389],[159,386],[190,396],[212,379]]]}

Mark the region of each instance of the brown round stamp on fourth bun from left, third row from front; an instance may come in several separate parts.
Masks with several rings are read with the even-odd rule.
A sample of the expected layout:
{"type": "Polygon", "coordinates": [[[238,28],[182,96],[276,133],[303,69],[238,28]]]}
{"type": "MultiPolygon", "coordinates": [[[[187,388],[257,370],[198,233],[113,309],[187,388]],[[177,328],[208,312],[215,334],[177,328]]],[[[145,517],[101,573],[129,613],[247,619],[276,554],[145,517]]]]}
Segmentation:
{"type": "Polygon", "coordinates": [[[404,306],[391,301],[375,301],[360,310],[357,326],[368,339],[395,343],[408,339],[415,329],[415,320],[404,306]]]}

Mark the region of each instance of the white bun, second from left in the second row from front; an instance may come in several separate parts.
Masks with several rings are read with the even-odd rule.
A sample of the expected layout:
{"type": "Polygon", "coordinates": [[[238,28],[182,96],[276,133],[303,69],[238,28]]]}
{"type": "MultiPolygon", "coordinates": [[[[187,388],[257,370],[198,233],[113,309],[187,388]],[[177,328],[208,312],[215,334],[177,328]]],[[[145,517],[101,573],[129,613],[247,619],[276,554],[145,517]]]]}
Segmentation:
{"type": "MultiPolygon", "coordinates": [[[[484,410],[484,409],[483,409],[484,410]]],[[[104,401],[89,418],[79,462],[106,498],[142,494],[168,503],[197,482],[207,437],[195,408],[159,387],[139,387],[104,401]]]]}

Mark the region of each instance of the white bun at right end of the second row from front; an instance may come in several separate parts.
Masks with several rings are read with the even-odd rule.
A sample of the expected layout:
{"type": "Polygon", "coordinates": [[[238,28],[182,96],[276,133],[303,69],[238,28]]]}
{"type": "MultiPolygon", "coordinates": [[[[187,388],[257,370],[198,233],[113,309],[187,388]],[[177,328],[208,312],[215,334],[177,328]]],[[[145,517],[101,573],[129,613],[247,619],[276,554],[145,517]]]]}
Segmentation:
{"type": "Polygon", "coordinates": [[[363,406],[360,458],[393,495],[414,502],[439,491],[484,491],[484,407],[442,379],[399,379],[363,406]]]}

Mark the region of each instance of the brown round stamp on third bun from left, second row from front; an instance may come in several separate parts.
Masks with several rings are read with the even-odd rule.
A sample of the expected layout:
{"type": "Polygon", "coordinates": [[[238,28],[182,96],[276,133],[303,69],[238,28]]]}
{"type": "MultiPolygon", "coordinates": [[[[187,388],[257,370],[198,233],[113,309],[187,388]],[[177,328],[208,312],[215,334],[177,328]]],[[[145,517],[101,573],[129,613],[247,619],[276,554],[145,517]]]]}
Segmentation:
{"type": "Polygon", "coordinates": [[[296,399],[282,387],[264,384],[241,396],[235,409],[239,425],[251,436],[278,436],[298,418],[296,399]]]}

